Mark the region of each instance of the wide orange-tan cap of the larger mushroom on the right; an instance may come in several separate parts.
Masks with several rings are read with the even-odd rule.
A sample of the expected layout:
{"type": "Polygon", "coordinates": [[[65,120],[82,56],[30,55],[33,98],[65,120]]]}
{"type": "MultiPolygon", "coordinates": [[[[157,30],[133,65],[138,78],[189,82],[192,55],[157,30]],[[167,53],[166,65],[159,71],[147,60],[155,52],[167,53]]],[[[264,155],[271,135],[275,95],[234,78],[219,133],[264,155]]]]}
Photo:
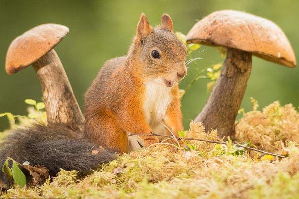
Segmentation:
{"type": "Polygon", "coordinates": [[[235,48],[291,68],[296,65],[284,32],[272,21],[245,12],[211,13],[192,27],[187,42],[235,48]]]}

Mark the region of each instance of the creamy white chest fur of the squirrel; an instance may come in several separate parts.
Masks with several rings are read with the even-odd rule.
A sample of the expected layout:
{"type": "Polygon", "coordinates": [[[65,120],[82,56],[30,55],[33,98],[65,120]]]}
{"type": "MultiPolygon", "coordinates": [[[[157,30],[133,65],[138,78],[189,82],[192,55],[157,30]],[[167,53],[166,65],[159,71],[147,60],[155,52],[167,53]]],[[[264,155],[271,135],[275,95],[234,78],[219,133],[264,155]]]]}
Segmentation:
{"type": "Polygon", "coordinates": [[[171,102],[171,88],[161,79],[145,83],[144,115],[149,126],[155,132],[163,128],[163,119],[171,102]]]}

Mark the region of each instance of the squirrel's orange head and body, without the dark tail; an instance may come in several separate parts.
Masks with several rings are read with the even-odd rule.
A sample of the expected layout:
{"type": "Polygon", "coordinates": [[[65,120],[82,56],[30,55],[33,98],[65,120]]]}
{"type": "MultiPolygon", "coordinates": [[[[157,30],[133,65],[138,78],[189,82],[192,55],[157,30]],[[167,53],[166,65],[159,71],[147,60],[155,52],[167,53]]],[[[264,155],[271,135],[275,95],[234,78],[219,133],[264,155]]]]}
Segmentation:
{"type": "Polygon", "coordinates": [[[130,133],[164,134],[166,125],[177,135],[183,130],[178,82],[187,73],[186,55],[169,15],[153,28],[142,14],[128,54],[107,61],[85,94],[85,137],[128,152],[159,142],[156,136],[128,140],[130,133]]]}

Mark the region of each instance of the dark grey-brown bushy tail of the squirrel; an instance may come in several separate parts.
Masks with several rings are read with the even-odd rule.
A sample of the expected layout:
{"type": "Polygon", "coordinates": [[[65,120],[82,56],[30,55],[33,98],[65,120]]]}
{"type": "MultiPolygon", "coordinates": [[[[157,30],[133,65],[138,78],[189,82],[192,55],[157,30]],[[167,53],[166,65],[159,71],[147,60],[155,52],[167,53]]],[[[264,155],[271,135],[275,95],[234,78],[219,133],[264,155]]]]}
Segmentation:
{"type": "MultiPolygon", "coordinates": [[[[21,164],[28,161],[31,166],[42,165],[51,176],[55,176],[60,168],[77,170],[80,175],[85,175],[115,159],[113,152],[99,150],[99,146],[77,137],[76,133],[59,125],[34,125],[13,130],[0,143],[0,168],[10,157],[21,164]],[[91,153],[96,149],[99,153],[91,153]]],[[[12,183],[1,170],[0,181],[8,186],[12,183]]]]}

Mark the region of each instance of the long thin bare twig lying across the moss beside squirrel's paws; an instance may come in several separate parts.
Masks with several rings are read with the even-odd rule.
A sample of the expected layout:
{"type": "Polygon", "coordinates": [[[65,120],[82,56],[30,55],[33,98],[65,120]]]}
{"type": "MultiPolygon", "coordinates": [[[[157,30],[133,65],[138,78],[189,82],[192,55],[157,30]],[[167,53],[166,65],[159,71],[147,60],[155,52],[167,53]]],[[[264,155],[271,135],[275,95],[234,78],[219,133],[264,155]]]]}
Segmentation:
{"type": "MultiPolygon", "coordinates": [[[[160,136],[160,137],[169,137],[169,138],[173,138],[173,136],[170,136],[170,135],[159,135],[159,134],[156,134],[156,133],[152,133],[152,134],[138,134],[138,133],[131,133],[129,136],[133,136],[133,135],[146,135],[146,136],[160,136]]],[[[195,138],[183,138],[183,137],[175,137],[177,140],[193,140],[193,141],[201,141],[201,142],[209,142],[209,143],[216,143],[216,144],[225,144],[227,145],[226,142],[223,142],[223,141],[214,141],[214,140],[205,140],[205,139],[195,139],[195,138]]],[[[252,148],[252,147],[248,147],[248,146],[243,146],[241,144],[235,144],[235,143],[232,143],[232,145],[235,145],[235,146],[238,146],[238,147],[242,147],[244,149],[249,149],[249,150],[252,150],[252,151],[257,151],[257,152],[260,152],[260,153],[264,153],[265,154],[268,154],[268,155],[272,155],[272,156],[276,156],[276,157],[280,157],[280,158],[289,158],[287,156],[283,156],[283,155],[278,155],[278,154],[275,154],[275,153],[270,153],[270,152],[267,152],[267,151],[262,151],[262,150],[259,150],[259,149],[255,149],[255,148],[252,148]]]]}

